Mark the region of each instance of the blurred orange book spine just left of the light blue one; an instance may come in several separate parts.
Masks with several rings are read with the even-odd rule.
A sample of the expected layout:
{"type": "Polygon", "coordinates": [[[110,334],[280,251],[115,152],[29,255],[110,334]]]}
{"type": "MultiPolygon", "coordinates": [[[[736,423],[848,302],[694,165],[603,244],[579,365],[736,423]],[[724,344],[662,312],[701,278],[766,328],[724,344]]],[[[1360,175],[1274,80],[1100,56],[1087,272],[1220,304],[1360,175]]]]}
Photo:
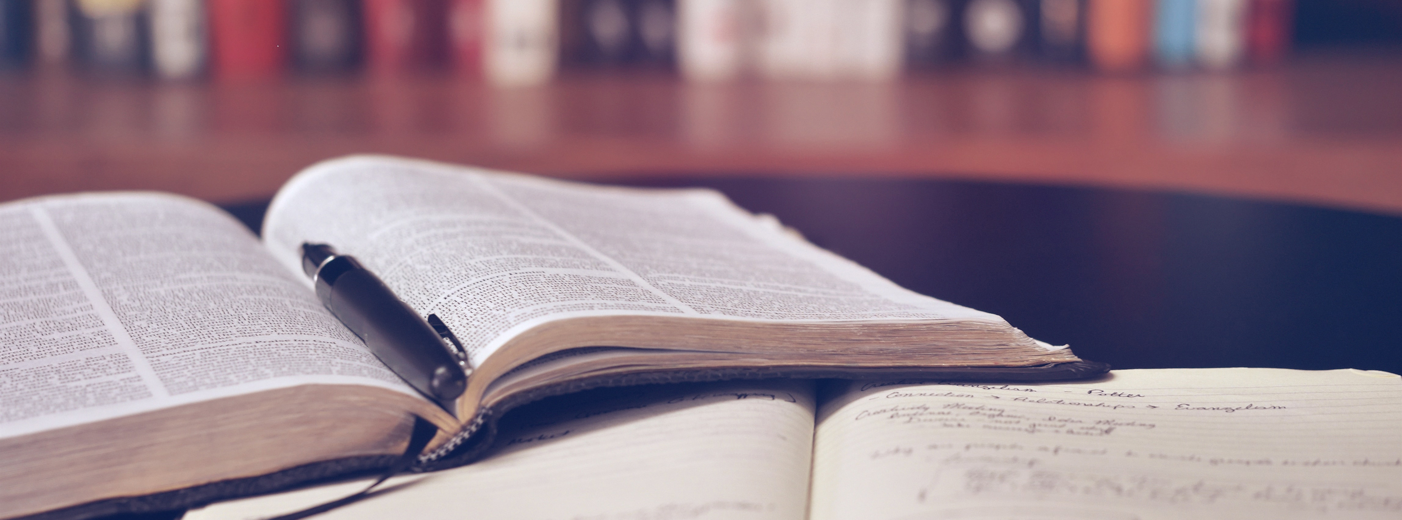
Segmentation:
{"type": "Polygon", "coordinates": [[[1087,50],[1106,71],[1143,69],[1148,59],[1150,0],[1089,0],[1087,50]]]}

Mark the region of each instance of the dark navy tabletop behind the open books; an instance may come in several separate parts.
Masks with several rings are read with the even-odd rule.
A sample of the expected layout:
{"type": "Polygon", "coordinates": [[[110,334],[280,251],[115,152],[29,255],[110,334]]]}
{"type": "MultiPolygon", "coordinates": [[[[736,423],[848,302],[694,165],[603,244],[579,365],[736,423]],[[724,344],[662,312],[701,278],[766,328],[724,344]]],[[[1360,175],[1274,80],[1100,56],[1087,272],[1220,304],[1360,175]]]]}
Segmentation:
{"type": "MultiPolygon", "coordinates": [[[[1402,219],[1392,216],[937,179],[628,184],[719,189],[901,286],[1001,314],[1117,369],[1402,373],[1402,219]]],[[[257,230],[266,206],[226,209],[257,230]]]]}

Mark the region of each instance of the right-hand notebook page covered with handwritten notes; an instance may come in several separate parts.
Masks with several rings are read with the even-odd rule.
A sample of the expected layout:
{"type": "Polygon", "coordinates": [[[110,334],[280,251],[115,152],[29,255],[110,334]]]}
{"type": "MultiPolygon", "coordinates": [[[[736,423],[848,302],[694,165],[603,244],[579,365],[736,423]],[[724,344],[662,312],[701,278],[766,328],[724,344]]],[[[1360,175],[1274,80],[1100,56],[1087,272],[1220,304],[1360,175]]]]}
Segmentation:
{"type": "Polygon", "coordinates": [[[1402,380],[1176,369],[857,383],[820,412],[812,519],[1187,517],[1402,517],[1402,380]]]}

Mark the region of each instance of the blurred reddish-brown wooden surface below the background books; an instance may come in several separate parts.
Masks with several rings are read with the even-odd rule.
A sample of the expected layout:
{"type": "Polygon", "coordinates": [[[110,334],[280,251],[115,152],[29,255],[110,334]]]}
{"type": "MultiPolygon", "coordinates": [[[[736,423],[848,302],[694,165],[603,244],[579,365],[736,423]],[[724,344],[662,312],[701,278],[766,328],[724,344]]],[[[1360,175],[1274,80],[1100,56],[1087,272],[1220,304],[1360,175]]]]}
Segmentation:
{"type": "Polygon", "coordinates": [[[960,69],[893,84],[698,85],[656,71],[572,71],[526,90],[449,76],[0,76],[0,200],[87,189],[251,200],[350,153],[585,179],[949,177],[1396,214],[1402,56],[1124,77],[960,69]]]}

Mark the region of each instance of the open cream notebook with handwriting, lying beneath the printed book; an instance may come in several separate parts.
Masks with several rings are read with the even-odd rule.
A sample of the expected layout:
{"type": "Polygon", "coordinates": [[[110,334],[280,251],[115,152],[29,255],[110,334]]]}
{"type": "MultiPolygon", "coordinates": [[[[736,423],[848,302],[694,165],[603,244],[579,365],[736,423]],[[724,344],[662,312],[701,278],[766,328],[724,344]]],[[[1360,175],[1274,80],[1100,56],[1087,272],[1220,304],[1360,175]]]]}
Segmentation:
{"type": "MultiPolygon", "coordinates": [[[[318,519],[1402,516],[1402,378],[1378,371],[872,380],[822,399],[806,381],[610,391],[522,408],[488,458],[391,479],[318,519]]],[[[185,520],[262,519],[358,486],[217,503],[185,520]]]]}

